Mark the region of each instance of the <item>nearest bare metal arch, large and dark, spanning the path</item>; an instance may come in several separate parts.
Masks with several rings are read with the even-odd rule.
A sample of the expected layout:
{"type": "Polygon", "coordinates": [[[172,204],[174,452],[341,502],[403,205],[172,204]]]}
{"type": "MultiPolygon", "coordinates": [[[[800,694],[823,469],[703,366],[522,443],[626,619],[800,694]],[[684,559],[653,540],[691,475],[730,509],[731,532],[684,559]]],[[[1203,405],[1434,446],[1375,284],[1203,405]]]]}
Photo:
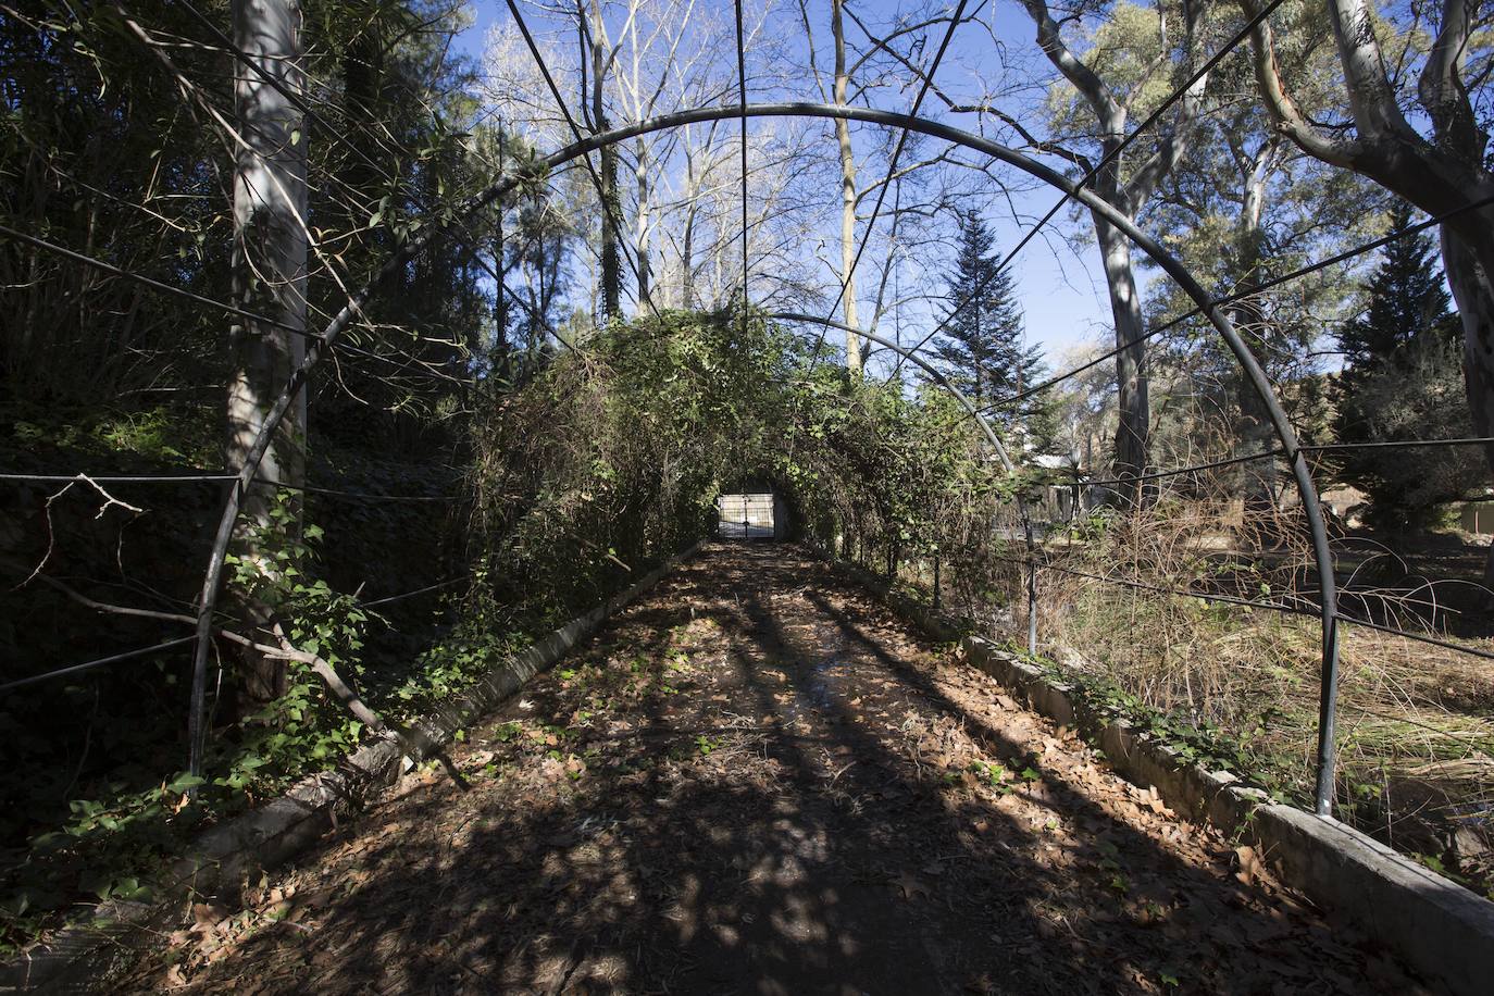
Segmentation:
{"type": "MultiPolygon", "coordinates": [[[[748,105],[746,108],[695,108],[689,111],[680,111],[668,115],[660,115],[650,118],[647,121],[639,121],[627,124],[619,128],[613,128],[605,133],[587,136],[572,145],[568,145],[548,157],[541,160],[545,169],[554,169],[562,166],[577,157],[586,155],[595,149],[607,145],[613,145],[630,137],[641,134],[648,134],[651,131],[662,131],[666,128],[680,127],[684,124],[705,122],[705,121],[720,121],[735,116],[753,116],[753,118],[828,118],[837,119],[843,118],[847,121],[864,121],[870,124],[881,124],[889,127],[907,128],[911,131],[919,131],[932,137],[944,139],[955,145],[983,152],[992,158],[1002,161],[1014,169],[1019,169],[1029,176],[1040,179],[1061,191],[1068,193],[1074,200],[1082,203],[1091,212],[1098,214],[1109,224],[1112,224],[1118,231],[1125,234],[1138,249],[1146,252],[1153,263],[1156,263],[1168,276],[1171,276],[1183,291],[1194,299],[1203,314],[1219,332],[1221,337],[1230,346],[1234,354],[1236,361],[1245,370],[1250,387],[1265,403],[1267,412],[1271,420],[1271,427],[1276,430],[1277,439],[1282,442],[1282,448],[1288,455],[1292,466],[1292,478],[1297,482],[1297,491],[1303,502],[1303,512],[1307,517],[1307,527],[1312,536],[1313,545],[1313,560],[1318,569],[1318,588],[1319,597],[1322,600],[1322,676],[1321,676],[1321,693],[1319,693],[1319,723],[1318,723],[1318,784],[1316,784],[1316,811],[1321,815],[1328,815],[1333,805],[1333,766],[1334,766],[1334,706],[1336,706],[1336,691],[1337,691],[1337,585],[1333,573],[1333,557],[1328,550],[1328,532],[1322,518],[1322,509],[1318,505],[1318,490],[1312,479],[1312,472],[1307,467],[1306,457],[1297,441],[1297,433],[1292,430],[1291,421],[1286,418],[1286,412],[1282,409],[1280,400],[1271,390],[1271,384],[1261,369],[1261,364],[1255,360],[1255,355],[1240,339],[1230,321],[1228,315],[1219,311],[1204,291],[1203,285],[1194,279],[1192,273],[1186,266],[1176,257],[1173,257],[1167,249],[1164,249],[1155,239],[1144,234],[1135,224],[1118,212],[1115,206],[1100,199],[1094,191],[1079,187],[1074,181],[1064,176],[1058,170],[1032,160],[1016,149],[1007,148],[998,142],[992,142],[977,134],[971,134],[961,128],[950,127],[937,121],[926,121],[923,118],[904,115],[892,111],[877,111],[871,108],[850,108],[850,106],[834,106],[834,105],[819,105],[819,103],[766,103],[766,105],[748,105]]],[[[480,211],[498,200],[508,191],[514,190],[520,182],[520,178],[502,178],[492,184],[489,188],[469,199],[456,212],[454,218],[465,218],[474,211],[480,211]]],[[[203,576],[202,600],[199,606],[197,620],[197,647],[193,662],[193,699],[194,705],[202,700],[202,694],[206,685],[206,656],[208,644],[212,635],[212,611],[217,603],[218,587],[223,581],[223,566],[224,557],[227,555],[229,544],[233,536],[233,527],[239,515],[239,506],[245,490],[254,479],[260,461],[264,458],[269,449],[270,439],[273,438],[279,423],[285,418],[285,412],[290,405],[305,387],[308,375],[312,367],[321,360],[323,352],[342,334],[342,332],[353,321],[354,315],[359,314],[365,302],[372,296],[374,287],[393,272],[396,267],[406,263],[409,258],[415,257],[426,249],[436,237],[447,233],[447,230],[454,224],[454,221],[447,221],[439,225],[433,225],[426,230],[423,236],[417,236],[414,240],[406,243],[399,252],[396,252],[390,260],[379,267],[378,273],[371,279],[362,290],[359,290],[348,303],[332,318],[324,332],[308,343],[306,357],[302,360],[300,366],[291,373],[290,379],[285,382],[279,397],[272,405],[266,415],[266,420],[260,429],[258,438],[254,445],[245,454],[244,467],[239,470],[239,476],[235,487],[230,490],[229,497],[224,500],[223,515],[218,523],[218,532],[214,538],[212,554],[208,563],[208,570],[203,576]]],[[[197,732],[199,736],[202,730],[197,732]]],[[[194,742],[194,753],[199,744],[194,742]]]]}

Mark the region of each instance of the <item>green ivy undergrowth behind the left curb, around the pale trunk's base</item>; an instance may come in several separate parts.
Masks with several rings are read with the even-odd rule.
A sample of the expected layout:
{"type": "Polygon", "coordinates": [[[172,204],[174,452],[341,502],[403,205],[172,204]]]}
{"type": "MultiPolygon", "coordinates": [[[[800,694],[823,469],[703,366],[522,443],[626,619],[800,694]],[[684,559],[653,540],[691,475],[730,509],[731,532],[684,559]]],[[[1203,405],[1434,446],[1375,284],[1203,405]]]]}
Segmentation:
{"type": "MultiPolygon", "coordinates": [[[[368,632],[388,623],[315,576],[320,538],[320,527],[306,526],[302,539],[270,551],[279,567],[273,572],[230,558],[232,582],[272,605],[290,642],[332,664],[385,721],[403,723],[424,714],[471,687],[536,635],[490,629],[481,617],[451,611],[457,623],[414,660],[397,667],[371,664],[363,653],[368,632]]],[[[284,793],[368,741],[363,724],[326,693],[309,664],[293,660],[287,670],[281,697],[232,726],[220,726],[209,739],[206,778],[172,772],[172,762],[181,763],[185,750],[179,721],[169,715],[163,724],[133,733],[106,726],[100,747],[117,753],[121,763],[78,782],[79,791],[69,793],[64,809],[9,811],[6,838],[27,829],[30,835],[24,848],[9,851],[15,857],[0,874],[0,956],[13,954],[43,929],[90,915],[85,903],[154,899],[166,862],[181,854],[196,833],[284,793]]],[[[167,687],[181,687],[175,675],[161,676],[167,687]]],[[[13,726],[10,717],[27,708],[27,699],[66,697],[82,687],[12,697],[0,724],[13,726]]],[[[40,756],[48,745],[34,747],[40,756]]],[[[0,790],[6,797],[21,796],[25,785],[18,782],[25,776],[25,769],[0,772],[0,790]]]]}

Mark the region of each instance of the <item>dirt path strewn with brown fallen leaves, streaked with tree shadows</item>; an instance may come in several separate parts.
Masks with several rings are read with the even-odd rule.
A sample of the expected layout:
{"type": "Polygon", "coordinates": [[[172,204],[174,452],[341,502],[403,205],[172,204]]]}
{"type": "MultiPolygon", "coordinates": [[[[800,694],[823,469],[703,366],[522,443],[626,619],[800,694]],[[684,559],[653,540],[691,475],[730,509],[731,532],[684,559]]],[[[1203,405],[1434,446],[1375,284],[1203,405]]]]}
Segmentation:
{"type": "Polygon", "coordinates": [[[134,984],[1416,992],[792,548],[707,551],[457,747],[134,984]]]}

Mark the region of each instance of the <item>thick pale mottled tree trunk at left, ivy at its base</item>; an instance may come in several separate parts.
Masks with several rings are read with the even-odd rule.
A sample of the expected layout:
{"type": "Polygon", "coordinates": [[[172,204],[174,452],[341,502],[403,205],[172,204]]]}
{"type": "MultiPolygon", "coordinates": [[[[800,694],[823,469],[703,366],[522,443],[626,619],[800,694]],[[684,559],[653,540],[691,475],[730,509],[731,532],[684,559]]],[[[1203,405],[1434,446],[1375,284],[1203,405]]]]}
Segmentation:
{"type": "MultiPolygon", "coordinates": [[[[235,45],[258,69],[241,66],[233,91],[248,146],[238,151],[233,172],[233,294],[245,311],[279,323],[247,320],[230,333],[227,461],[235,472],[306,354],[305,337],[291,332],[306,327],[306,139],[300,112],[264,79],[302,91],[300,21],[299,0],[233,0],[235,45]]],[[[299,499],[290,523],[273,520],[270,511],[279,497],[276,482],[299,485],[306,478],[305,391],[276,430],[258,478],[263,484],[244,497],[238,554],[270,572],[272,547],[299,529],[299,499]]],[[[266,605],[244,599],[241,611],[249,633],[269,627],[266,605]]],[[[284,690],[285,662],[247,651],[242,705],[252,709],[284,690]]]]}

